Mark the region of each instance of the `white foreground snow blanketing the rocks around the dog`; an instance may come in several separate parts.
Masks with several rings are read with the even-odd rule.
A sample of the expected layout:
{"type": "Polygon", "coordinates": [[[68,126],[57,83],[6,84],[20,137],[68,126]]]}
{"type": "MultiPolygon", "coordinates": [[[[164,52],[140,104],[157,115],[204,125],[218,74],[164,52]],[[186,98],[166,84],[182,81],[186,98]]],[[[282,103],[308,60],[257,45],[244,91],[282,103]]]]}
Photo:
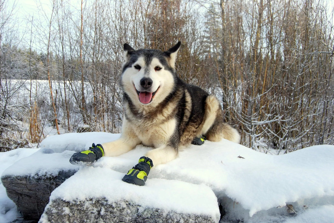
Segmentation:
{"type": "MultiPolygon", "coordinates": [[[[80,151],[87,149],[93,142],[96,144],[108,142],[119,136],[119,134],[101,132],[49,136],[41,143],[39,151],[30,149],[32,152],[37,151],[30,157],[27,156],[32,152],[26,152],[29,149],[1,153],[0,161],[5,162],[4,164],[0,162],[0,171],[3,172],[2,174],[19,175],[54,174],[61,168],[77,168],[68,163],[73,153],[69,150],[80,151]],[[10,158],[13,156],[15,158],[10,158]],[[31,168],[29,170],[11,167],[6,169],[19,159],[24,165],[31,163],[31,168]]],[[[122,182],[121,178],[124,174],[150,149],[152,148],[139,145],[121,156],[102,157],[91,167],[81,167],[75,175],[60,186],[63,190],[55,190],[51,197],[73,199],[75,196],[93,196],[94,194],[89,190],[83,190],[87,191],[86,193],[77,193],[77,191],[82,192],[78,188],[85,188],[85,185],[87,187],[87,184],[93,183],[103,185],[106,191],[117,191],[117,193],[104,194],[105,197],[109,196],[110,200],[116,199],[115,196],[135,197],[129,191],[140,190],[134,199],[142,199],[140,196],[147,197],[147,194],[150,194],[148,201],[156,202],[153,204],[155,206],[163,206],[166,209],[183,208],[178,210],[185,212],[212,209],[213,215],[215,212],[213,206],[216,206],[217,202],[205,198],[205,196],[210,197],[212,194],[209,194],[213,191],[226,211],[220,223],[236,220],[249,223],[333,221],[333,145],[313,146],[278,156],[257,152],[227,140],[205,141],[201,146],[191,145],[181,150],[179,156],[167,164],[154,166],[144,187],[122,182]],[[122,186],[115,186],[119,184],[122,186]],[[169,191],[180,191],[180,194],[175,193],[173,197],[174,195],[168,193],[169,191]],[[187,194],[186,191],[196,196],[179,199],[177,205],[170,206],[173,202],[168,202],[169,198],[177,199],[182,194],[187,194]],[[196,191],[203,191],[203,196],[197,196],[196,191]],[[163,199],[156,199],[161,195],[163,199]],[[198,202],[190,198],[201,201],[203,207],[192,206],[191,204],[198,202]],[[292,204],[297,214],[289,214],[286,211],[286,204],[292,204]]],[[[20,165],[20,162],[15,166],[20,165]]],[[[13,213],[16,210],[13,203],[6,203],[9,199],[4,194],[2,185],[1,187],[0,222],[8,222],[8,219],[13,219],[17,213],[13,213]],[[9,215],[11,217],[8,217],[9,215]],[[1,221],[2,219],[4,220],[1,221]]]]}

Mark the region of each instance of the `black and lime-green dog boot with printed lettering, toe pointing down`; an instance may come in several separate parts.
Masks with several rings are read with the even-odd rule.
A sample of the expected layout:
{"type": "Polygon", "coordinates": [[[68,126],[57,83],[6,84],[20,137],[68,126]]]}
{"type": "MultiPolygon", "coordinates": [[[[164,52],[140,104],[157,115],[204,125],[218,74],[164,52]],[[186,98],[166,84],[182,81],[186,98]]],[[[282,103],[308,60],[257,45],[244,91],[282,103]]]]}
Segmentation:
{"type": "Polygon", "coordinates": [[[122,180],[130,184],[144,186],[147,180],[147,175],[150,173],[152,167],[152,160],[142,156],[140,157],[138,164],[132,167],[122,180]]]}

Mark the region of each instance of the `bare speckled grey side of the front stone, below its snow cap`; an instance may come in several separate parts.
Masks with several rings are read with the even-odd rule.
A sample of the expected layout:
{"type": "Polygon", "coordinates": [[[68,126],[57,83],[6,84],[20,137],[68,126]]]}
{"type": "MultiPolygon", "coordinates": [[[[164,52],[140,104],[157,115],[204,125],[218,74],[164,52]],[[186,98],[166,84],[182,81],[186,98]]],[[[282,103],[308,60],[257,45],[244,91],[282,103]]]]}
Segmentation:
{"type": "Polygon", "coordinates": [[[39,223],[127,222],[127,223],[213,223],[217,218],[204,214],[178,213],[159,208],[142,207],[126,200],[109,202],[106,198],[84,201],[55,199],[45,208],[39,223]]]}

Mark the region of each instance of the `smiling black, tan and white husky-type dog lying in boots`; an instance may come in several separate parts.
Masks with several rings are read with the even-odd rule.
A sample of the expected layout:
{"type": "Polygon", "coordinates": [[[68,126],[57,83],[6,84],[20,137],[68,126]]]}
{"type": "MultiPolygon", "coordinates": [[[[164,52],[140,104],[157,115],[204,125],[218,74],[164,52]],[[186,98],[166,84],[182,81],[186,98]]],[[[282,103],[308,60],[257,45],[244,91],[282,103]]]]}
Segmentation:
{"type": "MultiPolygon", "coordinates": [[[[121,155],[139,144],[153,147],[123,178],[125,182],[144,185],[153,163],[159,165],[175,159],[179,148],[188,147],[196,138],[205,136],[210,141],[224,138],[239,143],[237,130],[223,121],[219,100],[177,76],[175,62],[180,46],[178,42],[163,52],[135,50],[124,44],[125,62],[120,78],[124,107],[121,137],[98,146],[93,144],[89,150],[93,152],[86,155],[100,155],[88,162],[101,156],[121,155]]],[[[77,164],[77,160],[74,157],[71,163],[77,164]]],[[[82,163],[82,159],[78,162],[82,163]]]]}

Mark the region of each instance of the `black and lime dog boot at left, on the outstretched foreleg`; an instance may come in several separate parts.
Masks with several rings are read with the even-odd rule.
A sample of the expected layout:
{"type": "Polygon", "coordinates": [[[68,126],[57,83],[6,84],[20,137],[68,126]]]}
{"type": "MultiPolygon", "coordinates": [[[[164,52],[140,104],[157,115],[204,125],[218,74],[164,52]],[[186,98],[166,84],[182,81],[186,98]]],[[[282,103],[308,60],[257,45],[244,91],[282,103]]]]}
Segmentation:
{"type": "Polygon", "coordinates": [[[74,165],[90,165],[104,156],[104,150],[101,144],[93,143],[89,150],[74,153],[69,162],[74,165]]]}

